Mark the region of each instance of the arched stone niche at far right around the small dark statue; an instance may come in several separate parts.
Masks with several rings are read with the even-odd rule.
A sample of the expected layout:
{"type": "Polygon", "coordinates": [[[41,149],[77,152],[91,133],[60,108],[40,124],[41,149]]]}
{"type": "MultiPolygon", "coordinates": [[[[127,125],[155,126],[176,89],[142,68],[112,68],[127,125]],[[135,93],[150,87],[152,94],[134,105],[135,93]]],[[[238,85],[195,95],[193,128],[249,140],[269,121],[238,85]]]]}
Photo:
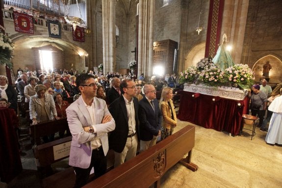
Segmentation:
{"type": "Polygon", "coordinates": [[[258,59],[252,67],[255,72],[255,81],[259,81],[262,77],[263,65],[269,61],[272,69],[269,71],[269,82],[279,83],[282,82],[282,61],[275,55],[265,55],[258,59]]]}

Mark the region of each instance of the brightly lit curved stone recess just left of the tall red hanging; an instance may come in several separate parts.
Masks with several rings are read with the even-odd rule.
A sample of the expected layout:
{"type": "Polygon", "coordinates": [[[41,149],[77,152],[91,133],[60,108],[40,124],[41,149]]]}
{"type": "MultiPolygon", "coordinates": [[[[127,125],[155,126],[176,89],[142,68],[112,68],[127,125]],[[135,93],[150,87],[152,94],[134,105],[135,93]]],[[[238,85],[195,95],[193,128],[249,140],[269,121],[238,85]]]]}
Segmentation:
{"type": "Polygon", "coordinates": [[[205,42],[195,45],[186,55],[184,70],[196,64],[205,57],[205,42]]]}

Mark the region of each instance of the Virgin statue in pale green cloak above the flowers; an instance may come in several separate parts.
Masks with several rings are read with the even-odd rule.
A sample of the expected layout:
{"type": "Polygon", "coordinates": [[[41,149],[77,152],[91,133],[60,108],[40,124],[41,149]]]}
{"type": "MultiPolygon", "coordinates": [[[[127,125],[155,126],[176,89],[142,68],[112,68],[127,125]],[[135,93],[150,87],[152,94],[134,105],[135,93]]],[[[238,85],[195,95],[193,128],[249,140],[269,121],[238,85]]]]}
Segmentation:
{"type": "Polygon", "coordinates": [[[221,71],[225,71],[225,69],[234,66],[234,61],[231,57],[231,54],[227,51],[226,46],[227,46],[227,36],[224,33],[223,34],[223,42],[222,45],[220,45],[218,47],[218,50],[215,54],[215,56],[212,59],[212,62],[214,62],[214,64],[216,66],[218,66],[220,68],[221,71]]]}

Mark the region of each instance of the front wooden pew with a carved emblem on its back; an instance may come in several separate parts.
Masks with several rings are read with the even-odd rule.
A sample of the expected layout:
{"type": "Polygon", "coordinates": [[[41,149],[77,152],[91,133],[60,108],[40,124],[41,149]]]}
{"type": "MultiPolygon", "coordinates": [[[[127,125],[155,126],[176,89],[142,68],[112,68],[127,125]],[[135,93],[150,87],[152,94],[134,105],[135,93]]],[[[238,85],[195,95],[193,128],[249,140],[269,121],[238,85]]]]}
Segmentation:
{"type": "Polygon", "coordinates": [[[194,145],[195,127],[187,125],[83,188],[148,188],[152,184],[159,188],[162,175],[179,161],[193,171],[198,169],[191,162],[194,145]]]}

